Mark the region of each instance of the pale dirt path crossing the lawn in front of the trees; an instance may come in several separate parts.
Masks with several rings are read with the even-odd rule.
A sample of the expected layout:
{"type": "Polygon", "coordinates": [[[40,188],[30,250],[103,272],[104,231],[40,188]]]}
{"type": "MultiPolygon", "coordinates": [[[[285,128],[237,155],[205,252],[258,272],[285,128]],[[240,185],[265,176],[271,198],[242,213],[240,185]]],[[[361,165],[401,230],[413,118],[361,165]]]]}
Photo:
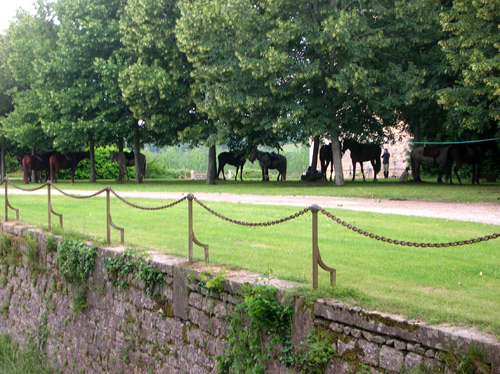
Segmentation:
{"type": "MultiPolygon", "coordinates": [[[[69,191],[68,191],[69,192],[69,191]]],[[[9,190],[9,194],[46,195],[46,190],[23,192],[9,190]]],[[[75,195],[88,195],[89,191],[71,191],[75,195]]],[[[117,192],[123,198],[151,198],[178,200],[186,194],[180,192],[117,192]]],[[[52,195],[58,195],[53,191],[52,195]]],[[[363,212],[396,214],[403,216],[434,217],[456,221],[480,222],[500,226],[500,203],[455,203],[428,200],[361,199],[330,196],[269,196],[238,195],[230,193],[194,193],[200,201],[231,202],[260,205],[287,205],[309,207],[317,204],[322,208],[347,209],[363,212]]],[[[101,196],[104,196],[102,194],[101,196]]]]}

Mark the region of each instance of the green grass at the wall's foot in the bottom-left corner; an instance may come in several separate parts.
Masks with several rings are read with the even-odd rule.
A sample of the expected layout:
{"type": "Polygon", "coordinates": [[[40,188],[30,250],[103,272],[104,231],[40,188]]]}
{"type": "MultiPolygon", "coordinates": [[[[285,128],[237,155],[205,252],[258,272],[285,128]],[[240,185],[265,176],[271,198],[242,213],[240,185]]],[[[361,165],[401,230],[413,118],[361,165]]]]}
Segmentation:
{"type": "Polygon", "coordinates": [[[35,349],[20,349],[9,335],[0,335],[0,372],[9,374],[51,374],[35,349]]]}

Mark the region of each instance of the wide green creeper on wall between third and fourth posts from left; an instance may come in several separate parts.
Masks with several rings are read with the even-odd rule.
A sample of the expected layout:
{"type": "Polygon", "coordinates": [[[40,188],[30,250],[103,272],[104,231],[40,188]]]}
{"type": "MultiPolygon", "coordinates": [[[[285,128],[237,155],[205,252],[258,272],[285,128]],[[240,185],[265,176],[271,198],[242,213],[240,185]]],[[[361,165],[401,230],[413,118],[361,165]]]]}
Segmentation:
{"type": "Polygon", "coordinates": [[[163,273],[146,260],[146,253],[135,248],[127,248],[121,255],[105,257],[104,269],[113,286],[126,290],[132,279],[139,279],[144,283],[144,293],[150,297],[158,296],[159,288],[165,283],[163,273]]]}

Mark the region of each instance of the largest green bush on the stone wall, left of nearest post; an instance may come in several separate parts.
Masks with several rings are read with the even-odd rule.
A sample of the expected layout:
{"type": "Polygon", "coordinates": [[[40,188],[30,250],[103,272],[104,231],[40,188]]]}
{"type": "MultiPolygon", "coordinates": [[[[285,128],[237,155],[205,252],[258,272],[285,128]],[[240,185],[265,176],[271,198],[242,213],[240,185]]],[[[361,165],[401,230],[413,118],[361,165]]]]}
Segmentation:
{"type": "Polygon", "coordinates": [[[264,373],[274,347],[281,345],[281,359],[290,362],[293,309],[277,299],[271,285],[243,290],[244,301],[236,305],[223,356],[217,357],[221,373],[264,373]]]}

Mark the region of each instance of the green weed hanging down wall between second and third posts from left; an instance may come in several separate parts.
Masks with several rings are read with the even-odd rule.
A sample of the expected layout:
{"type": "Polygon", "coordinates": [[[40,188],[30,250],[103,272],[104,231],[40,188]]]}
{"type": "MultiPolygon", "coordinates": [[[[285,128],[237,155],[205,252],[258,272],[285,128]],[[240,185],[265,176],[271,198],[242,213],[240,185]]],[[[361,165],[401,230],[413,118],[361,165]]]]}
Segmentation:
{"type": "Polygon", "coordinates": [[[88,306],[88,279],[94,271],[96,255],[97,247],[69,238],[63,238],[57,247],[56,262],[59,272],[78,290],[78,294],[73,299],[75,313],[88,306]]]}

